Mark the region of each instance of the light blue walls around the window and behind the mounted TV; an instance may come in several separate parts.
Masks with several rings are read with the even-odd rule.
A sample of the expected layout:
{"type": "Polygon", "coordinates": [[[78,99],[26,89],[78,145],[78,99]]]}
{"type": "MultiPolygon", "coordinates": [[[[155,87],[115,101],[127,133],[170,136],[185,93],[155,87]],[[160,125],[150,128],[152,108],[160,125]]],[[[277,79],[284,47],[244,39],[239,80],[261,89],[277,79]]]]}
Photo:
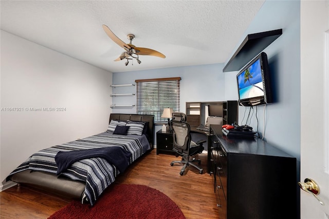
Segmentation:
{"type": "MultiPolygon", "coordinates": [[[[249,33],[283,29],[283,34],[264,52],[267,53],[272,74],[273,96],[275,102],[265,110],[265,132],[263,111],[256,107],[248,124],[264,135],[264,140],[300,160],[300,2],[266,1],[250,26],[241,36],[241,41],[249,33]]],[[[234,50],[235,51],[235,50],[234,50]]],[[[232,53],[234,52],[232,51],[232,53]]],[[[153,70],[117,72],[113,74],[114,84],[134,83],[135,79],[181,77],[181,105],[185,112],[185,102],[236,100],[237,72],[223,73],[224,63],[162,68],[153,70]]],[[[135,87],[120,88],[121,93],[135,90],[135,87]]],[[[119,88],[113,93],[120,93],[119,88]]],[[[113,98],[113,103],[135,103],[135,97],[113,98]]],[[[135,113],[136,109],[114,108],[113,113],[135,113]]],[[[239,124],[246,123],[249,107],[239,107],[239,124]],[[247,111],[244,121],[245,109],[247,111]]]]}

